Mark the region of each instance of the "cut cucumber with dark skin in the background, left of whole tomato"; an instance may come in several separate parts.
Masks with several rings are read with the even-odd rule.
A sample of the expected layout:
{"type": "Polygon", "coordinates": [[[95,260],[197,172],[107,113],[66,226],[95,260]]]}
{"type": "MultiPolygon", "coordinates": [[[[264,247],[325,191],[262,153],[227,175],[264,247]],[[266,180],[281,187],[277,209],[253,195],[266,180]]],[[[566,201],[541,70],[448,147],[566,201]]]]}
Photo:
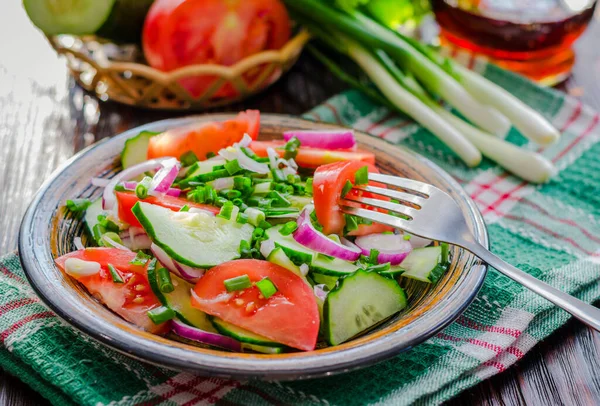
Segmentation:
{"type": "Polygon", "coordinates": [[[140,42],[154,0],[23,0],[31,21],[46,35],[92,35],[140,42]]]}

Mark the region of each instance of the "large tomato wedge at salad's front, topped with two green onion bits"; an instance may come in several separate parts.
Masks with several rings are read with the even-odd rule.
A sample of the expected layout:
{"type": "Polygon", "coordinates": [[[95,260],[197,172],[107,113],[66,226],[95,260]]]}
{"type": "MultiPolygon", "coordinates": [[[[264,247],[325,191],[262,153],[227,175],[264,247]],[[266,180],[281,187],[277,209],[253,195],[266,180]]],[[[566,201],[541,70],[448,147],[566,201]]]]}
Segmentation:
{"type": "Polygon", "coordinates": [[[319,333],[315,296],[298,275],[267,261],[241,259],[210,269],[194,287],[192,306],[231,324],[300,350],[313,350],[319,333]],[[248,275],[269,278],[277,293],[268,299],[256,286],[228,293],[224,281],[248,275]]]}

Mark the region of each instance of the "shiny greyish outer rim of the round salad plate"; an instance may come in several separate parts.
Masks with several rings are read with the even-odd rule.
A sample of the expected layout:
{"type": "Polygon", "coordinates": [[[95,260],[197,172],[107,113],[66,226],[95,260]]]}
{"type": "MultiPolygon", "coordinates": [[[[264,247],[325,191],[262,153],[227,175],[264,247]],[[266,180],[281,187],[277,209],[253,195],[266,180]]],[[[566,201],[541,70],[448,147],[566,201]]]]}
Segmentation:
{"type": "MultiPolygon", "coordinates": [[[[42,184],[21,222],[18,242],[20,260],[25,275],[36,294],[61,319],[75,327],[77,330],[116,351],[162,367],[228,378],[268,378],[287,380],[315,378],[330,376],[335,373],[349,372],[372,365],[376,362],[390,358],[393,355],[397,355],[400,352],[406,351],[415,345],[424,342],[444,329],[458,318],[475,299],[479,289],[483,285],[483,281],[488,271],[486,264],[475,265],[472,266],[471,269],[465,270],[464,272],[467,272],[467,275],[464,280],[460,284],[457,284],[456,289],[451,291],[450,294],[443,299],[444,304],[446,305],[445,310],[447,311],[434,312],[432,311],[434,309],[426,311],[420,318],[426,318],[428,323],[420,323],[419,326],[416,326],[419,334],[409,340],[402,340],[402,337],[398,337],[398,334],[388,334],[348,349],[330,351],[327,353],[318,351],[294,353],[287,354],[291,355],[289,357],[281,358],[269,358],[262,355],[242,358],[240,356],[235,356],[235,354],[232,356],[231,354],[222,351],[219,352],[219,355],[196,353],[185,348],[180,348],[180,346],[174,345],[172,340],[166,338],[154,336],[153,339],[149,339],[131,334],[101,318],[93,317],[93,314],[82,311],[77,306],[67,306],[67,308],[65,308],[65,304],[60,303],[60,295],[56,295],[56,290],[53,290],[53,286],[48,284],[48,281],[44,279],[44,273],[36,272],[36,268],[39,269],[48,265],[36,260],[33,237],[28,235],[28,230],[31,229],[34,223],[37,208],[40,205],[42,198],[52,185],[60,180],[60,175],[77,161],[85,158],[89,154],[94,154],[96,149],[102,148],[109,143],[122,142],[123,140],[136,135],[140,131],[172,128],[185,125],[186,123],[193,122],[199,118],[223,120],[232,118],[234,115],[235,114],[192,115],[156,121],[132,128],[115,135],[114,137],[103,139],[81,150],[57,168],[42,184]],[[171,345],[169,345],[169,343],[171,343],[171,345]]],[[[310,121],[281,114],[263,114],[262,117],[263,119],[285,119],[291,120],[292,122],[310,121]]],[[[342,127],[341,125],[332,125],[330,123],[310,122],[313,124],[317,123],[323,127],[329,127],[330,129],[342,127]]],[[[361,132],[358,130],[355,131],[361,132]]],[[[389,145],[385,141],[376,138],[373,138],[373,142],[389,145]]],[[[487,228],[477,206],[464,189],[447,172],[427,158],[401,146],[396,147],[400,148],[402,153],[410,155],[413,159],[419,160],[422,164],[435,171],[444,182],[448,183],[449,187],[455,189],[456,192],[465,199],[465,203],[473,217],[473,225],[476,231],[475,234],[477,235],[479,242],[487,248],[487,228]]],[[[52,217],[54,216],[55,214],[53,213],[52,217]]],[[[44,246],[50,250],[49,241],[45,241],[44,246]]],[[[53,258],[51,252],[49,255],[53,258]]]]}

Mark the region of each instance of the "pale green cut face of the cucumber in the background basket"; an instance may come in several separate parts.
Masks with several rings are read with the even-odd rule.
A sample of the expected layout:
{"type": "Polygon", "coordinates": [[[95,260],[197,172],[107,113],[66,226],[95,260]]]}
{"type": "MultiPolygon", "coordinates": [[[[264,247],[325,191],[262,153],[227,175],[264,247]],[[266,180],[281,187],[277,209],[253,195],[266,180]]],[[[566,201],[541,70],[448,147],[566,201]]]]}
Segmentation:
{"type": "Polygon", "coordinates": [[[95,33],[115,0],[23,0],[31,21],[46,35],[95,33]]]}

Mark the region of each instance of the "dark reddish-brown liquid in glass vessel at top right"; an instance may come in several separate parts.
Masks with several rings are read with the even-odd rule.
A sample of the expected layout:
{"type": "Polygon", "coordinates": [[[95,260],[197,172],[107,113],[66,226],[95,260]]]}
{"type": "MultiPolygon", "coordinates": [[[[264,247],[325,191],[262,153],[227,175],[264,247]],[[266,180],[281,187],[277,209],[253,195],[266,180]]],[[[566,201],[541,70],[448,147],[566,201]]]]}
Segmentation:
{"type": "Polygon", "coordinates": [[[570,49],[596,0],[432,0],[442,37],[492,58],[551,58],[570,49]]]}

